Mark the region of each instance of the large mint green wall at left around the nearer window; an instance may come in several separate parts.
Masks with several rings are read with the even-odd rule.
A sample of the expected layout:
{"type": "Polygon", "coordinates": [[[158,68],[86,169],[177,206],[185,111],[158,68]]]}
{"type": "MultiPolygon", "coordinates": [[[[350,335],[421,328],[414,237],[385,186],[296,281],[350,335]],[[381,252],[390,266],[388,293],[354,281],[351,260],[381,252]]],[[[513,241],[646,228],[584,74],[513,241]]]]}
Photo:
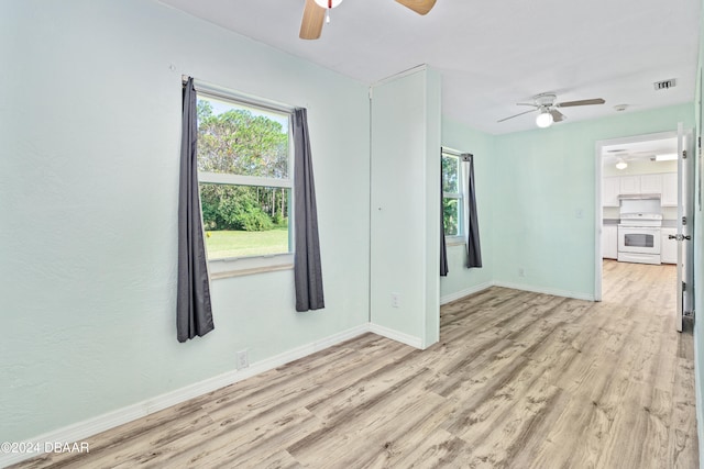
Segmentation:
{"type": "Polygon", "coordinates": [[[367,323],[365,85],[144,0],[2,2],[0,56],[0,440],[367,323]],[[324,310],[292,271],[217,280],[216,330],[177,343],[182,74],[308,108],[324,310]]]}

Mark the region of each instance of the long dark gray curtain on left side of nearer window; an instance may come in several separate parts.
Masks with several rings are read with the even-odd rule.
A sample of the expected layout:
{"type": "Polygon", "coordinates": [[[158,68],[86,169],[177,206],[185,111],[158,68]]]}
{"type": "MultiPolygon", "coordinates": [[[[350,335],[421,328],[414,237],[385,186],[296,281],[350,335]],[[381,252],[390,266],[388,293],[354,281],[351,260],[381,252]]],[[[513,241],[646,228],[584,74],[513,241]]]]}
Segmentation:
{"type": "Polygon", "coordinates": [[[196,143],[198,122],[194,79],[184,85],[178,187],[178,280],[176,332],[178,342],[204,336],[213,328],[208,283],[208,259],[198,197],[196,143]]]}

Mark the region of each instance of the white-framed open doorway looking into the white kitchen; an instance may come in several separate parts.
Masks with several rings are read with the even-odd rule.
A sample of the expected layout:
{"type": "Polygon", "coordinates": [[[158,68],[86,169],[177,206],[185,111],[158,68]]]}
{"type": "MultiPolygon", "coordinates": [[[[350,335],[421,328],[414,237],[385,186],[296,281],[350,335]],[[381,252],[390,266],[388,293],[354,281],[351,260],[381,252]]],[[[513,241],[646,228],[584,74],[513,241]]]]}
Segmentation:
{"type": "Polygon", "coordinates": [[[661,216],[661,222],[649,221],[657,226],[650,232],[659,232],[660,235],[657,241],[659,253],[644,256],[644,261],[648,259],[649,264],[672,265],[678,269],[678,280],[673,286],[678,288],[676,304],[672,306],[678,312],[679,331],[682,314],[693,309],[690,294],[693,291],[693,249],[692,242],[685,239],[692,231],[693,154],[692,132],[684,132],[681,127],[673,132],[596,144],[594,298],[602,301],[604,259],[632,261],[634,255],[626,256],[619,252],[619,246],[629,250],[624,249],[619,233],[632,233],[632,230],[619,226],[628,223],[638,225],[627,220],[634,216],[661,216]],[[678,237],[681,239],[675,239],[678,237]],[[689,291],[684,286],[690,287],[689,291]]]}

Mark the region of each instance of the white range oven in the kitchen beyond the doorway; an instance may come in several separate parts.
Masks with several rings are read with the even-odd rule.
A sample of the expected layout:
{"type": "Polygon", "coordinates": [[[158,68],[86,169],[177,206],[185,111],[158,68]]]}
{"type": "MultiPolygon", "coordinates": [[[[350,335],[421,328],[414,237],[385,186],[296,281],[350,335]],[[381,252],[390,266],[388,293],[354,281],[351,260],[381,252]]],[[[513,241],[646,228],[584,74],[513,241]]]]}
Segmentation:
{"type": "Polygon", "coordinates": [[[622,213],[618,224],[618,260],[660,264],[660,213],[622,213]]]}

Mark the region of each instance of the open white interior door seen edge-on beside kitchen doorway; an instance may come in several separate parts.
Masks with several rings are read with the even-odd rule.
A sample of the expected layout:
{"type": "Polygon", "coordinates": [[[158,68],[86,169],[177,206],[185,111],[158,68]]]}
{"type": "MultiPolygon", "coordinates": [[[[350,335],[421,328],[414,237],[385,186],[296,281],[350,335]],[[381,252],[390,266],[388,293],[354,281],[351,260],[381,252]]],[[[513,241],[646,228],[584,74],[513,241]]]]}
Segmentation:
{"type": "Polygon", "coordinates": [[[678,124],[678,295],[675,327],[682,332],[682,317],[692,311],[694,276],[692,248],[692,208],[694,200],[694,185],[691,177],[694,174],[693,139],[684,134],[682,124],[678,124]]]}

